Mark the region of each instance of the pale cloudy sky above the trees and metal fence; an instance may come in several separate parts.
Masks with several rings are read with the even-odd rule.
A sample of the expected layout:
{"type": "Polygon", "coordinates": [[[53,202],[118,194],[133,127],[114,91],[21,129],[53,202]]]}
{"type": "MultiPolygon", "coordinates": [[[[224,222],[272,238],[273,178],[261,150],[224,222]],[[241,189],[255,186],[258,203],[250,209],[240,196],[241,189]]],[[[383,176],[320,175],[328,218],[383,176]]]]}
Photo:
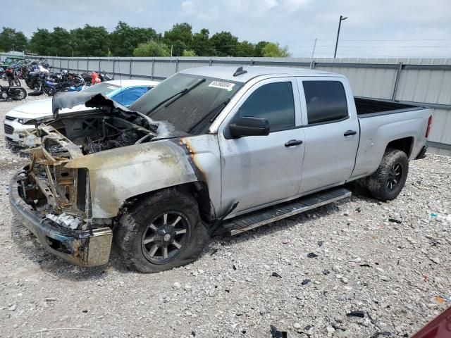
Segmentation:
{"type": "Polygon", "coordinates": [[[451,0],[16,0],[1,24],[28,37],[37,27],[67,30],[119,20],[156,32],[190,23],[240,41],[278,42],[295,57],[451,57],[451,0]]]}

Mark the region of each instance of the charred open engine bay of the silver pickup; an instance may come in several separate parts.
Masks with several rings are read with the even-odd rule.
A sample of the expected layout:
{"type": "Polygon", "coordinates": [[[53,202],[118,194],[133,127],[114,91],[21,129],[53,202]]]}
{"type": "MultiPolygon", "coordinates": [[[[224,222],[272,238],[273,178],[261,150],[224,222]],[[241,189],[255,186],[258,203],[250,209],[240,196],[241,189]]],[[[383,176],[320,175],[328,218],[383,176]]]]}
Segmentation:
{"type": "MultiPolygon", "coordinates": [[[[126,113],[71,116],[59,118],[50,125],[80,147],[85,155],[149,142],[156,137],[158,127],[140,115],[126,113]]],[[[46,148],[53,154],[65,151],[58,144],[47,144],[46,148]]]]}

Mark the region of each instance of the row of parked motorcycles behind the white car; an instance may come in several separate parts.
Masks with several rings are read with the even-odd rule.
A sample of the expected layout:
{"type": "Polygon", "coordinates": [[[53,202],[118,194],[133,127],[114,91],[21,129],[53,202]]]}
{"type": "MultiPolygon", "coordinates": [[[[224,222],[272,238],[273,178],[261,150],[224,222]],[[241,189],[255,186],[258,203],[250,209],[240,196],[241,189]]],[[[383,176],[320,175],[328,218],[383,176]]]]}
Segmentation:
{"type": "Polygon", "coordinates": [[[44,59],[7,59],[0,67],[1,77],[8,81],[8,87],[0,89],[0,100],[21,100],[27,96],[27,91],[20,87],[20,80],[25,80],[28,88],[34,89],[30,96],[56,92],[78,92],[85,87],[99,82],[113,80],[111,75],[105,72],[89,72],[81,75],[62,70],[60,73],[52,73],[51,66],[44,59]]]}

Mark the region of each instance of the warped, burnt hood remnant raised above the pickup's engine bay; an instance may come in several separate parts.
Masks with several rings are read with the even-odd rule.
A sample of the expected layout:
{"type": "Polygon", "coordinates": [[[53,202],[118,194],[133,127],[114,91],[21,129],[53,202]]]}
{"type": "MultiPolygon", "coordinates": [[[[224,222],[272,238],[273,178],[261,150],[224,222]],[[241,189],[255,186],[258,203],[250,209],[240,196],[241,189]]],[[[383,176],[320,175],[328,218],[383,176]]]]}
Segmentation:
{"type": "Polygon", "coordinates": [[[51,101],[51,111],[54,119],[58,118],[58,112],[63,108],[73,108],[84,104],[88,108],[116,108],[120,111],[130,112],[125,106],[109,99],[100,93],[92,92],[57,92],[51,101]]]}

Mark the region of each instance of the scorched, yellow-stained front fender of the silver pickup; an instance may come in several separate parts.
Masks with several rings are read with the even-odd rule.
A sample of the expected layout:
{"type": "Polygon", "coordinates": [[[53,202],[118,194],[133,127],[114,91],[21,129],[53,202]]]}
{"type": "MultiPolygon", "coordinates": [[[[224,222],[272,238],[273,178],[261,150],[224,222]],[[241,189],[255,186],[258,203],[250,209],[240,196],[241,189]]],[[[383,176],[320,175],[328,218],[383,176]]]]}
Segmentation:
{"type": "Polygon", "coordinates": [[[113,218],[139,194],[204,180],[185,139],[166,139],[75,158],[66,168],[87,168],[92,218],[113,218]]]}

